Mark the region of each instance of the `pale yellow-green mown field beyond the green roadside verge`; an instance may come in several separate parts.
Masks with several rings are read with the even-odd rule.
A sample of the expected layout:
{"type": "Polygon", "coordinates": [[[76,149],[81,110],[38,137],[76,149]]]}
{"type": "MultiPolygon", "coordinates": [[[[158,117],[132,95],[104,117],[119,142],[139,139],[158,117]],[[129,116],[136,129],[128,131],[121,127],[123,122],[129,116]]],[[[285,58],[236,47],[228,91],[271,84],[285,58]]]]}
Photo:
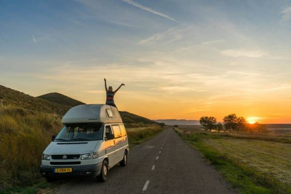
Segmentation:
{"type": "Polygon", "coordinates": [[[231,160],[291,186],[291,144],[241,139],[207,139],[204,142],[231,160]]]}

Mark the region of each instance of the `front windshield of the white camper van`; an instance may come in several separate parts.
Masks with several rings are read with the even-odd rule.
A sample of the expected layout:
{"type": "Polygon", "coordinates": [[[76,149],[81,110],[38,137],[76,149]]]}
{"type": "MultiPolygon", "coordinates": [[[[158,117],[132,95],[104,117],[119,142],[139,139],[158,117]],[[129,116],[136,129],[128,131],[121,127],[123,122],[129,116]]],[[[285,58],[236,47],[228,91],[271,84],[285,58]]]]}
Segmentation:
{"type": "Polygon", "coordinates": [[[94,141],[103,139],[103,126],[94,124],[66,125],[54,141],[94,141]]]}

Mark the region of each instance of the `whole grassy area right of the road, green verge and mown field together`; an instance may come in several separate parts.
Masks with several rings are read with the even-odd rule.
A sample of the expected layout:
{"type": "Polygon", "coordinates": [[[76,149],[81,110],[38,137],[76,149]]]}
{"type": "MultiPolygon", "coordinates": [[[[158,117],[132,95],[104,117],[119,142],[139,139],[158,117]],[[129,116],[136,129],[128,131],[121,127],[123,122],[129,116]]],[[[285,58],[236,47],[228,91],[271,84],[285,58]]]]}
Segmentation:
{"type": "MultiPolygon", "coordinates": [[[[291,194],[291,144],[262,134],[176,129],[242,194],[291,194]],[[254,136],[254,137],[251,137],[254,136]],[[257,139],[264,140],[257,140],[257,139]],[[275,142],[279,141],[279,142],[275,142]]],[[[284,137],[290,141],[290,137],[284,137]]]]}

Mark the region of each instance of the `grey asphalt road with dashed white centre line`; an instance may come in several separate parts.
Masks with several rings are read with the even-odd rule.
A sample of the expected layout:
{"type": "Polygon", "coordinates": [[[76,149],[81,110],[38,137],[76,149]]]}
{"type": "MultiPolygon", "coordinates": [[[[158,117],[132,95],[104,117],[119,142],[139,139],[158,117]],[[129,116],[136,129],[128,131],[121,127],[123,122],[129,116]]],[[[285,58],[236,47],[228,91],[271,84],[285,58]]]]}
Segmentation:
{"type": "Polygon", "coordinates": [[[195,149],[166,129],[129,151],[126,167],[116,165],[105,183],[66,180],[58,194],[234,194],[195,149]]]}

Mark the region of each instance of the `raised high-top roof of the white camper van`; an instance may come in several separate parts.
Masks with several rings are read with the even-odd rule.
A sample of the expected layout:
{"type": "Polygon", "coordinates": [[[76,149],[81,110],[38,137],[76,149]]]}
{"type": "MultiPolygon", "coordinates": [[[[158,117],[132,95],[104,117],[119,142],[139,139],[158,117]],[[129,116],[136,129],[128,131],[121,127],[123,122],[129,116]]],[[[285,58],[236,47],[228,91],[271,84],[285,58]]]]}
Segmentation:
{"type": "Polygon", "coordinates": [[[65,113],[63,124],[70,123],[122,123],[117,108],[105,104],[85,104],[65,113]]]}

